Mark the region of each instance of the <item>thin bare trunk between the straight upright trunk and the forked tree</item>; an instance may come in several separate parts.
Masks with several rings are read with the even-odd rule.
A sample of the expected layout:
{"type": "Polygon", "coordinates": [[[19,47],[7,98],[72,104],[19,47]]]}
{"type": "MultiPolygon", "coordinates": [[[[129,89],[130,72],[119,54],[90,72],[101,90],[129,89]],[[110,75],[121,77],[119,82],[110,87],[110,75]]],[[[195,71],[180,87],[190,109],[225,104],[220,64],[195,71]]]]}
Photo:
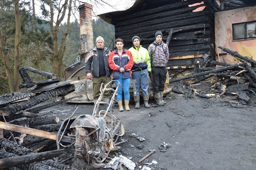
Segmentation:
{"type": "MultiPolygon", "coordinates": [[[[39,41],[38,41],[38,32],[37,32],[37,19],[35,17],[35,1],[32,0],[33,4],[33,18],[34,18],[34,29],[35,29],[35,44],[37,46],[37,57],[34,61],[35,68],[41,70],[41,56],[40,56],[40,49],[39,49],[39,41]]],[[[42,80],[42,75],[39,76],[40,80],[42,80]]]]}

